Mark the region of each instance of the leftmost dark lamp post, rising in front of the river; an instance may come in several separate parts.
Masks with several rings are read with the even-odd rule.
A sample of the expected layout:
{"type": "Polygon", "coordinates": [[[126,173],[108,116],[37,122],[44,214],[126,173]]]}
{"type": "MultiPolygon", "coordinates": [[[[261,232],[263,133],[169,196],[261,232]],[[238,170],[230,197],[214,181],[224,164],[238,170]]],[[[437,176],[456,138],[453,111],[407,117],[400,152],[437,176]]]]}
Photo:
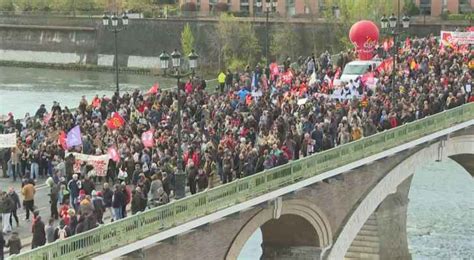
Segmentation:
{"type": "Polygon", "coordinates": [[[117,46],[117,34],[125,29],[128,26],[128,16],[127,13],[123,13],[120,16],[117,14],[104,14],[102,17],[102,24],[104,25],[105,29],[109,32],[114,33],[114,44],[115,44],[115,93],[119,95],[120,87],[119,87],[119,67],[118,67],[118,46],[117,46]]]}

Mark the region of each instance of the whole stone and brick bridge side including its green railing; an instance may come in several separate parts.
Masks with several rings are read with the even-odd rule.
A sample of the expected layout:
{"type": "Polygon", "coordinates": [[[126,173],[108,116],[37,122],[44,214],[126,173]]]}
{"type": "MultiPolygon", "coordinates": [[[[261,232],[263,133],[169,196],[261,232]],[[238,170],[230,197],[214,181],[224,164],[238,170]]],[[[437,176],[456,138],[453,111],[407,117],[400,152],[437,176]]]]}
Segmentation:
{"type": "Polygon", "coordinates": [[[474,103],[11,259],[236,259],[258,228],[262,259],[410,259],[411,177],[448,157],[474,176],[474,103]]]}

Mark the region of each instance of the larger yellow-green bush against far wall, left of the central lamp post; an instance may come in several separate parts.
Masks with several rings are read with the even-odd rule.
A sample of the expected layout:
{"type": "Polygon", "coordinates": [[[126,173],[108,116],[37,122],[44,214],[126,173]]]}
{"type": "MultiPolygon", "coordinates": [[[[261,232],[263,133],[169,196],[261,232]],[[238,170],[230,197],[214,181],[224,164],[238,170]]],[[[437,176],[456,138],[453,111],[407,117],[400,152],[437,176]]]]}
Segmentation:
{"type": "Polygon", "coordinates": [[[255,30],[250,22],[237,22],[235,17],[223,13],[217,24],[220,56],[227,67],[233,64],[256,64],[260,55],[260,46],[255,30]]]}

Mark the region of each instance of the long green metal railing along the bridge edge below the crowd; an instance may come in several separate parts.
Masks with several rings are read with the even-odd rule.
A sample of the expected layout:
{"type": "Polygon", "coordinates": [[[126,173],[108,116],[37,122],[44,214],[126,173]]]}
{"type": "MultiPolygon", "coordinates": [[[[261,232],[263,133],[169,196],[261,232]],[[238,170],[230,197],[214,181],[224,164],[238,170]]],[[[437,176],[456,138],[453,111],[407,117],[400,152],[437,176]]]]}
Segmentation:
{"type": "Polygon", "coordinates": [[[105,253],[286,185],[474,119],[474,103],[341,145],[110,223],[11,259],[77,259],[105,253]]]}

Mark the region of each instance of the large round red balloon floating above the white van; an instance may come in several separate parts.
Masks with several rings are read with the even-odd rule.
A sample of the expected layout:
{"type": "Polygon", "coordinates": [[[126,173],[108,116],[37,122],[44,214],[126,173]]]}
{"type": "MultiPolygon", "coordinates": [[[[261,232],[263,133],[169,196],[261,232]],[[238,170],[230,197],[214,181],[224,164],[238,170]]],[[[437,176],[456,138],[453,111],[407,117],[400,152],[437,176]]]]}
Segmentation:
{"type": "Polygon", "coordinates": [[[372,21],[359,21],[352,25],[349,39],[356,47],[359,59],[370,60],[379,40],[379,28],[372,21]]]}

